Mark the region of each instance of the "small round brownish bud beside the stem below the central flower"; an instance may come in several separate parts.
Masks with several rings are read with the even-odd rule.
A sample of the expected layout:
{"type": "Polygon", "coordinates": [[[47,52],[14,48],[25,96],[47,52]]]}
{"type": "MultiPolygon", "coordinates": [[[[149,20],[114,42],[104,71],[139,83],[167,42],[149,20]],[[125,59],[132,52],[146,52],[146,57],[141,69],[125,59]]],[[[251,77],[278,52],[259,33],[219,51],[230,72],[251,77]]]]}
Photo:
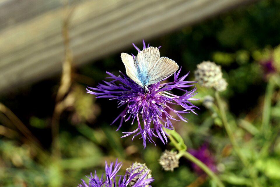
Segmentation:
{"type": "Polygon", "coordinates": [[[165,171],[173,171],[179,167],[179,159],[176,157],[177,152],[165,150],[160,156],[159,163],[165,171]]]}

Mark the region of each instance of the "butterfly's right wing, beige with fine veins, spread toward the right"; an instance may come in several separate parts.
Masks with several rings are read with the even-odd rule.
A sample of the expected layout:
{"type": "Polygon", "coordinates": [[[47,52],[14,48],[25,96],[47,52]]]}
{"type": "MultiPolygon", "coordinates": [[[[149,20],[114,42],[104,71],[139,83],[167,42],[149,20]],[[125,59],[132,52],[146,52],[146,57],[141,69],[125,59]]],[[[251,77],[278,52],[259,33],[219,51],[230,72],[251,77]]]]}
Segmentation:
{"type": "Polygon", "coordinates": [[[167,57],[160,57],[160,59],[154,64],[153,71],[150,72],[150,84],[157,83],[162,79],[172,75],[179,69],[178,64],[167,57]]]}

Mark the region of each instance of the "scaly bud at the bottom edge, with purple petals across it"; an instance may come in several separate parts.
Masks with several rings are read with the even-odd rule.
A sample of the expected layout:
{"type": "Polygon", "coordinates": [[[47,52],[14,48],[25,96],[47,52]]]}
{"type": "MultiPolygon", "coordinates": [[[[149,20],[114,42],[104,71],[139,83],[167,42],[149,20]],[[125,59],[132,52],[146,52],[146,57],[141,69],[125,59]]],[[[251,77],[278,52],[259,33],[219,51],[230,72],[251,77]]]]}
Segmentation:
{"type": "MultiPolygon", "coordinates": [[[[148,167],[146,166],[146,164],[141,164],[138,162],[134,162],[132,164],[132,166],[130,166],[129,168],[126,169],[126,175],[125,178],[128,180],[130,176],[132,176],[133,174],[137,174],[133,179],[130,180],[130,182],[128,183],[129,186],[133,186],[138,179],[143,176],[147,171],[148,173],[146,174],[146,176],[144,177],[143,180],[145,179],[150,179],[152,178],[152,171],[150,169],[148,169],[148,167]]],[[[148,184],[146,186],[149,186],[148,184]]]]}

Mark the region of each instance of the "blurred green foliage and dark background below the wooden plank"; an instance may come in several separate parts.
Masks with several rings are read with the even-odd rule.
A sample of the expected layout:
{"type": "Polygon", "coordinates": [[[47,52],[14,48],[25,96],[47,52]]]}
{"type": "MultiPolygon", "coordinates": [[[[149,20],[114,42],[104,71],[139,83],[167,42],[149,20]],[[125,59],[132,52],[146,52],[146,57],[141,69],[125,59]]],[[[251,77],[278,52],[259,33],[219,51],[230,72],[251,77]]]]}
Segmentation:
{"type": "MultiPolygon", "coordinates": [[[[188,80],[194,79],[196,65],[204,60],[222,66],[229,86],[221,95],[227,104],[227,118],[234,137],[260,186],[274,187],[280,186],[280,91],[279,82],[273,80],[269,112],[264,114],[269,116],[269,128],[263,129],[263,105],[268,97],[265,90],[267,82],[272,80],[261,62],[275,56],[280,64],[280,52],[276,52],[280,47],[274,50],[280,44],[279,10],[279,0],[262,0],[152,41],[146,40],[152,46],[161,45],[161,55],[175,60],[183,72],[190,71],[188,80]]],[[[137,45],[141,45],[140,41],[137,45]]],[[[143,150],[142,140],[135,138],[132,142],[132,137],[120,138],[121,132],[134,129],[129,121],[117,132],[118,121],[110,126],[122,109],[118,109],[114,101],[94,99],[85,93],[86,86],[94,87],[106,77],[105,71],[116,75],[119,70],[124,72],[124,66],[120,66],[121,52],[124,51],[76,70],[75,85],[69,93],[70,104],[60,119],[62,156],[59,159],[51,156],[54,142],[50,130],[55,105],[53,95],[59,79],[0,98],[41,143],[38,147],[1,113],[0,186],[76,186],[94,169],[101,174],[104,161],[110,162],[116,157],[124,163],[123,173],[132,162],[146,162],[155,178],[154,187],[215,186],[208,178],[198,176],[190,162],[183,158],[174,172],[164,172],[157,161],[161,152],[172,146],[155,140],[157,146],[149,143],[143,150]],[[195,181],[200,181],[199,185],[195,181]]],[[[132,47],[125,52],[135,54],[132,47]]],[[[276,66],[280,67],[279,64],[276,66]]],[[[196,111],[198,116],[186,114],[188,123],[174,122],[176,131],[188,148],[209,145],[225,186],[252,186],[248,171],[223,130],[219,112],[202,106],[204,96],[214,95],[213,90],[197,87],[196,98],[201,98],[194,102],[200,108],[196,111]]]]}

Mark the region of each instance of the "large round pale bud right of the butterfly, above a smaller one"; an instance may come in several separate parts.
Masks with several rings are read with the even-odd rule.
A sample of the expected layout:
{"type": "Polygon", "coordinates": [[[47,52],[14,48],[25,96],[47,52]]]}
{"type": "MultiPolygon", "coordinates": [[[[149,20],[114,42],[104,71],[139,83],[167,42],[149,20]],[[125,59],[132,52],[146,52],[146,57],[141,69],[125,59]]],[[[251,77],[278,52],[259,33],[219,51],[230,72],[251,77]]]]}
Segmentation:
{"type": "Polygon", "coordinates": [[[221,66],[210,61],[204,61],[198,64],[197,70],[195,71],[195,79],[200,85],[206,88],[214,87],[222,76],[221,66]]]}

